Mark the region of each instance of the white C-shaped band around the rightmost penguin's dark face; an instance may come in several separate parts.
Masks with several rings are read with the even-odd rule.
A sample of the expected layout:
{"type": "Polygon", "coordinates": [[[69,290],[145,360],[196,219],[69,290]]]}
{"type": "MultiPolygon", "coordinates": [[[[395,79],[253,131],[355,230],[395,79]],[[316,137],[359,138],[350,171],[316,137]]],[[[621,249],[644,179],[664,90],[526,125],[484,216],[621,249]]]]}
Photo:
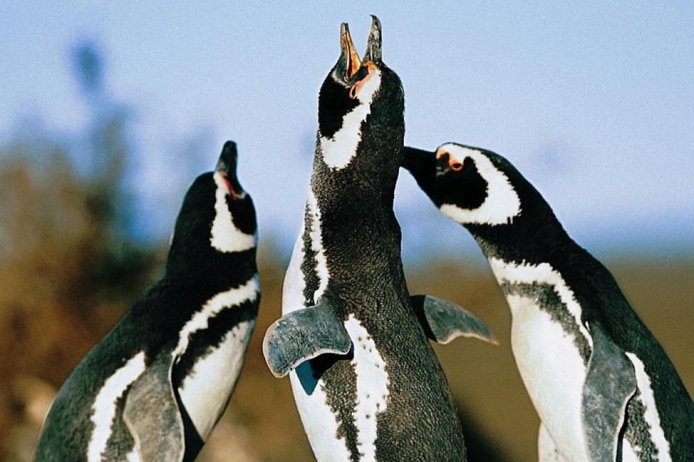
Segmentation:
{"type": "Polygon", "coordinates": [[[448,153],[450,159],[464,164],[466,158],[475,162],[480,176],[487,183],[486,197],[480,207],[463,209],[456,204],[444,203],[439,209],[450,219],[461,224],[504,225],[511,223],[521,214],[521,200],[509,178],[494,166],[489,157],[481,151],[457,144],[444,144],[437,149],[437,157],[448,153]]]}

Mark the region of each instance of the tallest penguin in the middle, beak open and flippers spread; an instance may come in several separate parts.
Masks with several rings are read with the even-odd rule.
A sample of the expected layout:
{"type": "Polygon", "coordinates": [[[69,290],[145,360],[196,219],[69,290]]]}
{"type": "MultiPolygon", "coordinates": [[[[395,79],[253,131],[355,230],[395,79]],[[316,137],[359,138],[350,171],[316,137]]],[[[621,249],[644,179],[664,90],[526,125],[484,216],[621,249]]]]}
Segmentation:
{"type": "Polygon", "coordinates": [[[443,341],[490,334],[443,300],[419,296],[413,307],[393,214],[403,87],[382,62],[376,17],[362,60],[346,24],[341,51],[319,94],[310,195],[266,361],[277,377],[289,373],[319,461],[464,460],[455,404],[418,316],[443,341]]]}

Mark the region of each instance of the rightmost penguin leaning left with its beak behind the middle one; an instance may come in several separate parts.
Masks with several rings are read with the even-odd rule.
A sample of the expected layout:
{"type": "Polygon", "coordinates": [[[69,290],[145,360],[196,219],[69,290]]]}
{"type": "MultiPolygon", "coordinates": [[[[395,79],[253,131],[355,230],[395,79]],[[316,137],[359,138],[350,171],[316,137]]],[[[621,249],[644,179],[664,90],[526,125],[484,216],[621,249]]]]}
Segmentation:
{"type": "Polygon", "coordinates": [[[542,461],[693,461],[694,405],[598,260],[504,157],[443,144],[403,166],[471,232],[511,308],[511,348],[542,461]]]}

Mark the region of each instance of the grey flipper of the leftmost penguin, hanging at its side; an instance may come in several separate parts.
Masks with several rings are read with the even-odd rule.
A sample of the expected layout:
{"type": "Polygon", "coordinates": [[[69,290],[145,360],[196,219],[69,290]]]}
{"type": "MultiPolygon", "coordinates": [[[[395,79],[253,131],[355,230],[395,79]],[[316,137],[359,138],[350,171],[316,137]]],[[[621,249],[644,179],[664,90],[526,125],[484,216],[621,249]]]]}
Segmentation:
{"type": "Polygon", "coordinates": [[[183,420],[171,385],[173,358],[160,356],[133,383],[126,397],[123,420],[142,461],[182,461],[183,420]]]}

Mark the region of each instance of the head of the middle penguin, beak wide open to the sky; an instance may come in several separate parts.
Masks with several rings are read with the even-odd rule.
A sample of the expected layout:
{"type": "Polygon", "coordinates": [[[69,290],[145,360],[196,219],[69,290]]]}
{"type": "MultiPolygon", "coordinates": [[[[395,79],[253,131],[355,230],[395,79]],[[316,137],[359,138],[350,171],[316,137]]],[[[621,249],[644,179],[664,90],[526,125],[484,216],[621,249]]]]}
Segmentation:
{"type": "MultiPolygon", "coordinates": [[[[382,60],[381,24],[372,16],[369,40],[362,59],[355,50],[347,24],[341,24],[341,54],[323,81],[319,93],[319,144],[325,164],[339,170],[356,157],[359,146],[370,155],[387,149],[378,146],[402,146],[405,130],[405,97],[398,75],[382,60]],[[371,146],[369,146],[371,144],[371,146]]],[[[400,148],[388,152],[391,170],[400,164],[400,148]],[[393,153],[395,153],[393,155],[393,153]]]]}

